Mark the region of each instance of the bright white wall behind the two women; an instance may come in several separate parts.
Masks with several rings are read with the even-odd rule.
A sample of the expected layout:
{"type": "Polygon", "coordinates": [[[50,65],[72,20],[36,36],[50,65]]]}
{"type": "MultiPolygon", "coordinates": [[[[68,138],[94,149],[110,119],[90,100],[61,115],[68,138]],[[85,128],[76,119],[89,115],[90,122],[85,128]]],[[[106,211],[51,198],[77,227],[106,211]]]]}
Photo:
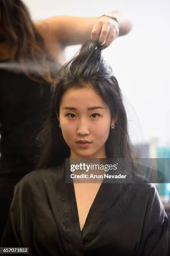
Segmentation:
{"type": "MultiPolygon", "coordinates": [[[[32,18],[54,15],[92,16],[121,10],[133,30],[115,40],[103,55],[112,66],[122,92],[130,135],[135,142],[159,136],[170,144],[170,1],[169,0],[24,0],[32,18]]],[[[67,49],[69,59],[77,46],[67,49]]]]}

